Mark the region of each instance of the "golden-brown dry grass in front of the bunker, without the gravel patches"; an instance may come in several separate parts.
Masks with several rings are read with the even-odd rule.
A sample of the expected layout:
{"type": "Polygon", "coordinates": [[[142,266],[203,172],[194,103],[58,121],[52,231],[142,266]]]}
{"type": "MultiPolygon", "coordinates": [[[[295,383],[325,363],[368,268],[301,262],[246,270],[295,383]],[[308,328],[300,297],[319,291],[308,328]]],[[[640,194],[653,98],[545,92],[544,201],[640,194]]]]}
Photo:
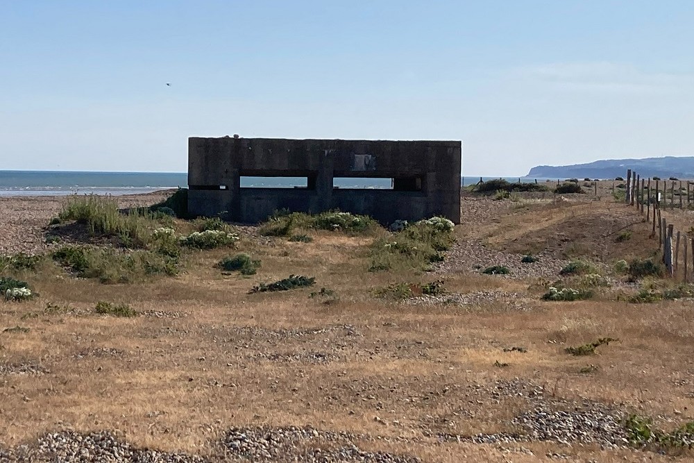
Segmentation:
{"type": "MultiPolygon", "coordinates": [[[[567,231],[571,239],[592,248],[597,234],[584,230],[595,226],[591,217],[624,213],[618,205],[595,204],[507,210],[480,233],[500,247],[546,246],[572,219],[585,226],[567,231]],[[528,241],[529,233],[537,241],[528,241]]],[[[44,268],[25,273],[40,298],[0,305],[0,328],[31,328],[0,334],[0,362],[33,362],[49,373],[0,376],[0,444],[29,442],[56,428],[106,428],[137,446],[209,455],[231,426],[310,425],[411,437],[403,444],[360,446],[425,461],[531,462],[547,452],[575,461],[666,461],[657,454],[550,443],[524,444],[535,456],[506,455],[499,446],[437,444],[423,436],[423,429],[462,435],[514,431],[508,421],[525,410],[525,400],[498,401],[474,387],[504,378],[545,385],[568,400],[616,403],[678,423],[691,419],[691,302],[543,302],[527,291],[532,281],[469,273],[445,276],[448,291],[518,292],[530,310],[507,310],[500,302],[430,307],[381,301],[371,289],[432,277],[366,272],[365,248],[373,238],[323,231],[312,237],[311,243],[243,239],[237,251],[262,259],[253,276],[221,274],[214,265],[228,255],[225,249],[193,253],[180,276],[130,285],[75,280],[44,268]],[[291,273],[315,276],[315,287],[247,294],[256,283],[291,273]],[[326,305],[308,297],[320,287],[333,289],[339,301],[326,305]],[[22,319],[42,312],[46,301],[86,314],[22,319]],[[88,314],[97,301],[126,303],[141,316],[88,314]],[[148,316],[151,311],[176,317],[148,316]],[[621,341],[589,358],[564,352],[607,336],[621,341]],[[509,346],[527,353],[504,352],[509,346]],[[116,354],[99,355],[98,348],[116,354]],[[324,356],[315,360],[315,353],[324,356]],[[509,366],[496,368],[496,360],[509,366]],[[580,373],[588,363],[598,369],[580,373]]],[[[641,253],[628,247],[623,252],[641,253]]]]}

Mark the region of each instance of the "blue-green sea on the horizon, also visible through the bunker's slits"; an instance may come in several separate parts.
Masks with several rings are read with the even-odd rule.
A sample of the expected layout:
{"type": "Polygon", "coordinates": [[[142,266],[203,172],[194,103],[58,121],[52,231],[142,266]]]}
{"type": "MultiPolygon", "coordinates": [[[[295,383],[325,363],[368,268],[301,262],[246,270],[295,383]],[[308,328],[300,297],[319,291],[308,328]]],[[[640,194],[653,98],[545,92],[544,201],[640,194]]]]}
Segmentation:
{"type": "MultiPolygon", "coordinates": [[[[68,194],[142,194],[185,188],[185,172],[85,172],[85,171],[0,171],[0,196],[60,196],[68,194]]],[[[500,177],[462,177],[463,186],[500,177]]],[[[506,177],[509,182],[534,182],[525,177],[506,177]]],[[[537,179],[545,181],[546,179],[537,179]]],[[[305,187],[305,178],[242,177],[242,187],[305,187]]],[[[388,189],[389,178],[336,178],[341,188],[388,189]]]]}

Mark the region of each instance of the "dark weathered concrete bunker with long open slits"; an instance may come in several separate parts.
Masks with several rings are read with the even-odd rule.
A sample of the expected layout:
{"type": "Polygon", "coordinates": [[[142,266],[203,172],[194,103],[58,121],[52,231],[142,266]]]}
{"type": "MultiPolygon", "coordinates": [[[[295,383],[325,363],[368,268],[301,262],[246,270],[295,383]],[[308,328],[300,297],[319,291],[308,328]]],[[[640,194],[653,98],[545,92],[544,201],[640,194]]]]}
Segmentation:
{"type": "Polygon", "coordinates": [[[460,167],[460,142],[191,137],[188,209],[245,223],[338,208],[383,224],[434,215],[459,224],[460,167]],[[309,187],[241,188],[242,176],[301,176],[309,187]],[[333,177],[394,178],[396,190],[337,189],[333,177]]]}

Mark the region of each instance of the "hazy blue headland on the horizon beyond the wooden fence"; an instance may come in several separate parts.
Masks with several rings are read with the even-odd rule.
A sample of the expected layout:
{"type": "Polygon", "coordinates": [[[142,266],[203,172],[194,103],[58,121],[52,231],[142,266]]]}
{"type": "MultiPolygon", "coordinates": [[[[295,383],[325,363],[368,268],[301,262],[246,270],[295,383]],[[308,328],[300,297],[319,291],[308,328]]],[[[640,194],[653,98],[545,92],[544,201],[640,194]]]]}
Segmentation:
{"type": "Polygon", "coordinates": [[[616,178],[625,177],[627,169],[641,178],[694,178],[694,156],[675,158],[611,159],[569,166],[537,166],[527,174],[531,178],[616,178]]]}

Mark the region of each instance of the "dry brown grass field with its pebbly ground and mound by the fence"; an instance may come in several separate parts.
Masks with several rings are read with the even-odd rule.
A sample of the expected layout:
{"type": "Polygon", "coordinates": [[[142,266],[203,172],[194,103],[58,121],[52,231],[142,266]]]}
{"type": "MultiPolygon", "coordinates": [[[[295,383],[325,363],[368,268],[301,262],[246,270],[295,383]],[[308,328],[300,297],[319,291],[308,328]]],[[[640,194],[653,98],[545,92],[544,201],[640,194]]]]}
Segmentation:
{"type": "MultiPolygon", "coordinates": [[[[628,283],[613,270],[654,256],[657,244],[609,186],[597,200],[466,196],[456,243],[430,271],[369,271],[369,246],[387,238],[384,229],[307,228],[312,242],[291,242],[246,226],[234,227],[241,239],[232,246],[184,251],[175,276],[105,284],[50,258],[6,267],[0,276],[38,296],[0,302],[0,461],[688,460],[686,436],[629,442],[632,414],[663,432],[693,420],[694,301],[630,302],[644,287],[675,282],[628,283]],[[624,230],[629,238],[618,239],[624,230]],[[260,260],[257,273],[215,267],[236,253],[260,260]],[[527,253],[539,261],[521,264],[527,253]],[[509,275],[477,268],[502,258],[509,275]],[[591,260],[607,286],[587,300],[544,301],[557,280],[587,284],[556,271],[575,258],[591,260]],[[541,269],[545,261],[555,267],[541,269]],[[316,283],[249,294],[291,274],[316,283]],[[418,296],[417,285],[435,280],[446,294],[418,296]],[[375,294],[398,283],[411,283],[415,297],[375,294]],[[310,296],[321,288],[334,294],[310,296]],[[139,316],[97,314],[99,301],[139,316]],[[565,351],[604,337],[618,341],[591,355],[565,351]],[[290,426],[310,428],[309,437],[268,444],[266,457],[226,437],[231,428],[290,426]],[[104,430],[180,460],[37,450],[47,433],[104,430]],[[345,446],[359,451],[330,453],[345,446]]],[[[193,230],[181,219],[173,227],[193,230]]]]}

